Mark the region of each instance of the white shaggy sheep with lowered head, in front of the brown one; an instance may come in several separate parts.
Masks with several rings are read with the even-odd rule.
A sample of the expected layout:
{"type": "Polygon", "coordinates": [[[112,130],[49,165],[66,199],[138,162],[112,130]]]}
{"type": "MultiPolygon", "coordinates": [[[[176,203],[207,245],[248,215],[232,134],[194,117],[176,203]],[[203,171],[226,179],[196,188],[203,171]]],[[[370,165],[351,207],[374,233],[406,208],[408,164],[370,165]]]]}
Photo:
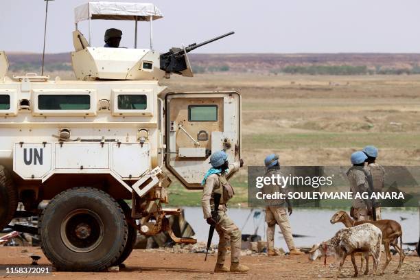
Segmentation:
{"type": "Polygon", "coordinates": [[[314,261],[321,255],[336,255],[340,258],[337,277],[341,275],[341,268],[348,255],[354,268],[353,277],[358,276],[358,267],[355,264],[354,253],[362,252],[366,257],[371,253],[373,257],[373,275],[376,275],[377,265],[381,256],[382,231],[373,224],[360,224],[348,229],[340,229],[327,242],[316,244],[310,250],[309,258],[314,261]]]}

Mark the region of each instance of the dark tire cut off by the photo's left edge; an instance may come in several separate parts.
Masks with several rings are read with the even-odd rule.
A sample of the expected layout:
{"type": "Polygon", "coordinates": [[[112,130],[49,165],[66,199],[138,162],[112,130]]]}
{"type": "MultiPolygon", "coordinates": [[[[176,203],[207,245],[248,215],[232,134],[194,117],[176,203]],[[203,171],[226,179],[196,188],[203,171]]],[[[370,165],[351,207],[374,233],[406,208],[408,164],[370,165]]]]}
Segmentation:
{"type": "Polygon", "coordinates": [[[12,220],[18,205],[18,192],[12,176],[0,165],[0,230],[12,220]]]}

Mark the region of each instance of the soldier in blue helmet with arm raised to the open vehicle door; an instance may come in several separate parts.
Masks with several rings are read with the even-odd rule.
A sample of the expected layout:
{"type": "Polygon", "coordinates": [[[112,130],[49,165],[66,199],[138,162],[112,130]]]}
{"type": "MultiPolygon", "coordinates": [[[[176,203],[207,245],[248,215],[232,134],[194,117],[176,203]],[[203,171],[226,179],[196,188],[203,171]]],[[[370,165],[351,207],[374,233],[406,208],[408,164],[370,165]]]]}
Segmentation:
{"type": "Polygon", "coordinates": [[[219,235],[218,259],[214,272],[247,272],[249,268],[240,264],[242,234],[240,229],[226,214],[226,202],[235,194],[233,187],[227,182],[226,174],[231,169],[233,172],[240,170],[244,161],[240,159],[229,165],[228,156],[224,151],[214,152],[210,156],[211,168],[202,180],[202,211],[207,224],[215,226],[219,235]],[[213,219],[211,210],[214,210],[214,194],[221,194],[218,208],[218,220],[213,219]],[[231,194],[231,195],[229,195],[231,194]],[[227,254],[227,241],[231,240],[231,268],[224,267],[227,254]]]}

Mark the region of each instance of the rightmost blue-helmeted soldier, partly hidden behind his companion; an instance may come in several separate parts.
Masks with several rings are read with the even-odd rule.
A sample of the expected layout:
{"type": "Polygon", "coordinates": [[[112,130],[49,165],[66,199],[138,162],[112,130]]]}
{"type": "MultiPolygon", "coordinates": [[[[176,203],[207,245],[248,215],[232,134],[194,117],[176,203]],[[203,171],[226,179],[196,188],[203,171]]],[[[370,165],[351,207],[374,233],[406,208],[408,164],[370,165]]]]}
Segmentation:
{"type": "MultiPolygon", "coordinates": [[[[385,169],[382,165],[376,163],[377,159],[377,148],[373,145],[367,145],[363,148],[362,152],[366,154],[366,167],[365,170],[369,175],[372,176],[373,191],[382,192],[385,185],[385,169]]],[[[381,220],[381,208],[376,207],[376,220],[381,220]]]]}

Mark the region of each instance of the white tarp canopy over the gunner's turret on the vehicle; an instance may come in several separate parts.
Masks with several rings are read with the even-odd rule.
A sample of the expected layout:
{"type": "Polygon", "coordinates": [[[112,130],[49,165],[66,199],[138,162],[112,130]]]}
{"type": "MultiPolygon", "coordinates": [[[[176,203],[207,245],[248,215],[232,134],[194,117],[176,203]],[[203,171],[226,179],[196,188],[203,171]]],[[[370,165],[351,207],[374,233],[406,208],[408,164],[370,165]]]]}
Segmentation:
{"type": "Polygon", "coordinates": [[[75,8],[75,23],[88,19],[113,19],[150,21],[161,19],[163,14],[152,3],[88,2],[75,8]]]}

